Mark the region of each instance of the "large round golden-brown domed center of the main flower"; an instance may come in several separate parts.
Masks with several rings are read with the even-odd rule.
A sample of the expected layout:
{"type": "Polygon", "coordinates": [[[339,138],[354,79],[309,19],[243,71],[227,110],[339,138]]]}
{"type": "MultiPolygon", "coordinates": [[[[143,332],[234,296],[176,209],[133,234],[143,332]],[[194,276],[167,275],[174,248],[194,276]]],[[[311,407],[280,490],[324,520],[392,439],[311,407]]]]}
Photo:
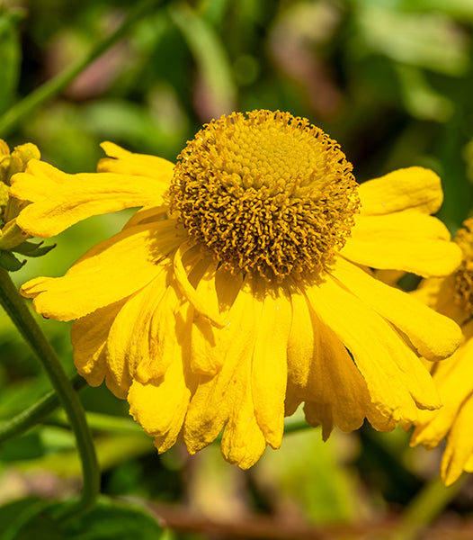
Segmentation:
{"type": "Polygon", "coordinates": [[[233,112],[177,157],[171,209],[234,274],[281,282],[320,272],[344,246],[360,206],[352,168],[304,118],[233,112]]]}

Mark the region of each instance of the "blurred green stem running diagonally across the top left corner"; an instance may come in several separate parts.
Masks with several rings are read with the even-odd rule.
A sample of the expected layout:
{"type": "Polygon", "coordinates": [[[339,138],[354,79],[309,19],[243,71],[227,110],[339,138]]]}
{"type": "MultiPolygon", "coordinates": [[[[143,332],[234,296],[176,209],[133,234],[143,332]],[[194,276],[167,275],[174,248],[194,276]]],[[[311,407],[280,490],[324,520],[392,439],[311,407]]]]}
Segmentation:
{"type": "Polygon", "coordinates": [[[42,103],[49,101],[49,99],[53,98],[61,90],[66,88],[67,85],[69,85],[76,76],[85,69],[85,67],[89,66],[94,59],[101,56],[105,50],[113,45],[113,43],[120,40],[120,38],[129,31],[129,28],[147,14],[151,8],[155,7],[158,2],[159,0],[143,0],[142,2],[139,2],[129,13],[129,16],[125,21],[121,23],[120,27],[103,41],[97,43],[84,58],[80,59],[76,64],[73,64],[62,73],[59,73],[58,76],[55,76],[44,83],[44,85],[41,85],[35,91],[31,92],[31,94],[28,94],[22,101],[14,104],[13,107],[5,112],[4,116],[0,118],[0,134],[2,137],[4,138],[34,109],[42,103]]]}

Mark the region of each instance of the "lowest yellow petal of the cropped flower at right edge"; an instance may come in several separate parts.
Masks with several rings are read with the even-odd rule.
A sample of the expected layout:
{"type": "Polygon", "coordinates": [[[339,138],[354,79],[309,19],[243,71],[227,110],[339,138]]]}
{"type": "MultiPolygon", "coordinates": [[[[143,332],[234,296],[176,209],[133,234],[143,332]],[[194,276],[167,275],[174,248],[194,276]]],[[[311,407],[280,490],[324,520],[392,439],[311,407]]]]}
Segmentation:
{"type": "Polygon", "coordinates": [[[473,455],[473,399],[469,396],[461,406],[451,428],[448,443],[443,452],[441,475],[447,486],[457,481],[463,473],[465,465],[473,455]]]}

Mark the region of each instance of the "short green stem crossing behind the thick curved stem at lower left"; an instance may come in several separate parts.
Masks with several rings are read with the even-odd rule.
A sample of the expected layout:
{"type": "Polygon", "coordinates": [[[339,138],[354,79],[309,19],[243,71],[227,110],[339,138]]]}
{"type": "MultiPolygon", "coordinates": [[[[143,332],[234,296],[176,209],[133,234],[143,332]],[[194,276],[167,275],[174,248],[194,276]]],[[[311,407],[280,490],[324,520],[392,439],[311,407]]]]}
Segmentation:
{"type": "MultiPolygon", "coordinates": [[[[85,380],[77,374],[71,379],[70,383],[76,391],[81,390],[86,385],[85,380]]],[[[0,425],[0,444],[39,424],[41,420],[45,419],[58,406],[58,394],[51,390],[39,401],[33,403],[31,407],[22,410],[13,419],[5,420],[0,425]]]]}

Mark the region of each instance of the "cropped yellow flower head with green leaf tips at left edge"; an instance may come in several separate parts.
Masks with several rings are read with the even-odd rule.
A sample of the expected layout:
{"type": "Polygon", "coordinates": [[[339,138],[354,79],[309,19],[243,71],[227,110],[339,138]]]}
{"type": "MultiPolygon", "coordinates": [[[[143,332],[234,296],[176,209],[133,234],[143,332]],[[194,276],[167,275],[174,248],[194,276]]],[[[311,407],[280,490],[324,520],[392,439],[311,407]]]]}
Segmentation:
{"type": "Polygon", "coordinates": [[[25,262],[20,262],[12,252],[38,257],[51,248],[26,242],[30,236],[16,224],[16,217],[28,202],[10,196],[10,182],[13,175],[25,170],[30,159],[40,159],[40,150],[34,144],[28,142],[10,152],[0,139],[0,266],[10,271],[20,269],[25,262]]]}

